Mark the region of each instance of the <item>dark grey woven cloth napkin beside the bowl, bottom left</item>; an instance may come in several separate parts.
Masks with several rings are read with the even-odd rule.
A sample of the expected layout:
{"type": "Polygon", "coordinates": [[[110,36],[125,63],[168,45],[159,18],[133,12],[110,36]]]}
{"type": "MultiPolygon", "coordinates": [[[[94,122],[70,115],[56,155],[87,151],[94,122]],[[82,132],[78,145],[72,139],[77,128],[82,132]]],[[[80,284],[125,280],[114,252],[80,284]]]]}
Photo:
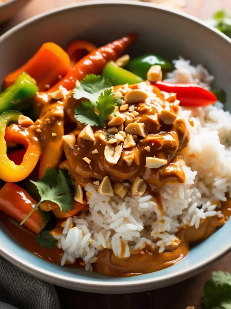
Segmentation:
{"type": "Polygon", "coordinates": [[[0,309],[60,309],[55,288],[0,256],[0,309]]]}

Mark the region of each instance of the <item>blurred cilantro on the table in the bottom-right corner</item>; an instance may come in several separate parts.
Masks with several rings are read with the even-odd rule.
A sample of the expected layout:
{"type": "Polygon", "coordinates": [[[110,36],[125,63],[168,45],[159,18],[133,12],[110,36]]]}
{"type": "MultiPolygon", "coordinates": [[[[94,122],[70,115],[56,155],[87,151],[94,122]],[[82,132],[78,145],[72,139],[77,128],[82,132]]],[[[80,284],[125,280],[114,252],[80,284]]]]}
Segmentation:
{"type": "Polygon", "coordinates": [[[205,282],[202,301],[205,309],[231,309],[231,274],[213,272],[205,282]]]}

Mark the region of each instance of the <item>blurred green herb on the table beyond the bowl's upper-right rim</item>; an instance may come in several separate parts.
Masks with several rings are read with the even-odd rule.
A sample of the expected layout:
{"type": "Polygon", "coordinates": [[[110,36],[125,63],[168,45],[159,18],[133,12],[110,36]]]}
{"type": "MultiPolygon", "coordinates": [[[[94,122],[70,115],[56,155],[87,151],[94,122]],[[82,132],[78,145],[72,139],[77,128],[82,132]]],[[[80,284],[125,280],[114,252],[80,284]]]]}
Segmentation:
{"type": "Polygon", "coordinates": [[[231,17],[225,11],[217,11],[208,22],[231,38],[231,17]]]}

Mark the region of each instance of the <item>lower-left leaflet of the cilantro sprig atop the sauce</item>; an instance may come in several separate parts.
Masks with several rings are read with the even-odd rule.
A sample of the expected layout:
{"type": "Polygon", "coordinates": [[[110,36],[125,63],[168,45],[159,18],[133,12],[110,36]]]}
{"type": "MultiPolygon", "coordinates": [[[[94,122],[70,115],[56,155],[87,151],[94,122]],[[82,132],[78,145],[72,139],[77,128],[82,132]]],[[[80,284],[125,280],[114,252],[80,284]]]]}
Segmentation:
{"type": "Polygon", "coordinates": [[[75,119],[85,125],[99,125],[99,116],[95,113],[95,105],[88,101],[82,101],[75,108],[75,119]]]}

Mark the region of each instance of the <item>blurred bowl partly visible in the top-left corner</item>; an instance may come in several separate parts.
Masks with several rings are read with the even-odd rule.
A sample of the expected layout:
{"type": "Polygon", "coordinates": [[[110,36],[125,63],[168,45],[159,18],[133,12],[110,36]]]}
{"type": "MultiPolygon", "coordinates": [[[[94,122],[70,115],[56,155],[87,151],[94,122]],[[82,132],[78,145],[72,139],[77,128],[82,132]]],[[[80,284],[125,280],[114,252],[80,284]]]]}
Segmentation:
{"type": "Polygon", "coordinates": [[[5,0],[0,3],[0,23],[12,18],[30,0],[5,0]]]}

